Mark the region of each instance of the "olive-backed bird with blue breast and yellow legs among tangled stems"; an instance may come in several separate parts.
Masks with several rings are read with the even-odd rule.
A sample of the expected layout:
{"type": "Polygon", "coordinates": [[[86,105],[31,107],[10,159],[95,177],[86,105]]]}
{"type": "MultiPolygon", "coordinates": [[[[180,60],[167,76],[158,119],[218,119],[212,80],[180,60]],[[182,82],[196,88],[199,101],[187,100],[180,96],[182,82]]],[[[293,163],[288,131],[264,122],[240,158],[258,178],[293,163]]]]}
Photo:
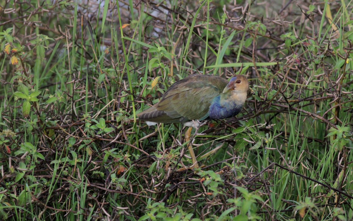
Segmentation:
{"type": "Polygon", "coordinates": [[[237,115],[247,98],[249,82],[243,75],[227,79],[207,74],[191,74],[175,82],[152,107],[137,114],[149,126],[157,123],[184,123],[189,126],[185,142],[189,149],[193,168],[198,168],[195,153],[190,144],[192,127],[202,120],[217,120],[237,115]]]}

